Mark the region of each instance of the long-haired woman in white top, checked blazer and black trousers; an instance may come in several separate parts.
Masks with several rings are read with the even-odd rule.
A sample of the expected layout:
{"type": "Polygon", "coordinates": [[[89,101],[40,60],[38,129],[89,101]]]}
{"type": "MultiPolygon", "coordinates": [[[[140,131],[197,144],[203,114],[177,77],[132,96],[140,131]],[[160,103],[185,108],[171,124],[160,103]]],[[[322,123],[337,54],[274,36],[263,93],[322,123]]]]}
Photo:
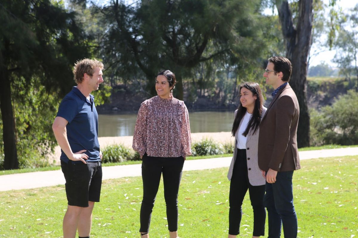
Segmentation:
{"type": "Polygon", "coordinates": [[[265,178],[257,164],[257,144],[261,118],[266,112],[258,83],[246,82],[240,86],[240,104],[234,113],[232,135],[235,150],[227,174],[230,180],[229,235],[240,233],[242,202],[247,190],[253,208],[252,237],[265,235],[266,212],[263,206],[265,178]]]}

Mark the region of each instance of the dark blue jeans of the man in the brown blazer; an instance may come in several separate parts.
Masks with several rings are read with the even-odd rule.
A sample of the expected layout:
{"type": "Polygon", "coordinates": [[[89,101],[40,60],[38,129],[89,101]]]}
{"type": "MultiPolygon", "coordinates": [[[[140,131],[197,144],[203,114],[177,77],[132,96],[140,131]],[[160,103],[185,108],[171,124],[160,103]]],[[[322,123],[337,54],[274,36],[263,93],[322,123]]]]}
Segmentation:
{"type": "Polygon", "coordinates": [[[293,171],[277,172],[276,182],[266,182],[264,204],[269,217],[269,237],[281,236],[281,224],[285,238],[297,237],[297,216],[293,205],[293,171]]]}

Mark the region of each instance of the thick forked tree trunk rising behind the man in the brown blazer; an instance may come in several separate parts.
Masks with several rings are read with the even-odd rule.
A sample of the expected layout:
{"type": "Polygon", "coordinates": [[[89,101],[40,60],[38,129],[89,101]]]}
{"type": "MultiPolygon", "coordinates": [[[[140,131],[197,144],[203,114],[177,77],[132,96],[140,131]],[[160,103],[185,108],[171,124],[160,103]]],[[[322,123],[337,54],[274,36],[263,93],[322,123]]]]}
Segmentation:
{"type": "Polygon", "coordinates": [[[292,63],[290,85],[295,91],[300,105],[297,130],[297,144],[299,148],[310,145],[310,116],[306,96],[306,75],[312,31],[312,1],[299,1],[297,27],[295,28],[287,0],[276,0],[282,34],[286,41],[286,57],[292,63]]]}

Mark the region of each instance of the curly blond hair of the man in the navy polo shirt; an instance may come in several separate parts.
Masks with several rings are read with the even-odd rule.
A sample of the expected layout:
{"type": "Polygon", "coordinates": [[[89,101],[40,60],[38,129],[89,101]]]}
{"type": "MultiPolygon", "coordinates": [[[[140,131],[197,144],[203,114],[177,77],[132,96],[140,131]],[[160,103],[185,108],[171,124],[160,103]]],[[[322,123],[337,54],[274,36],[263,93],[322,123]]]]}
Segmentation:
{"type": "Polygon", "coordinates": [[[73,76],[74,81],[79,84],[83,81],[84,73],[88,74],[89,76],[93,76],[94,69],[96,67],[100,67],[101,70],[104,69],[104,66],[101,61],[98,61],[96,59],[83,59],[79,60],[74,64],[73,67],[73,76]]]}

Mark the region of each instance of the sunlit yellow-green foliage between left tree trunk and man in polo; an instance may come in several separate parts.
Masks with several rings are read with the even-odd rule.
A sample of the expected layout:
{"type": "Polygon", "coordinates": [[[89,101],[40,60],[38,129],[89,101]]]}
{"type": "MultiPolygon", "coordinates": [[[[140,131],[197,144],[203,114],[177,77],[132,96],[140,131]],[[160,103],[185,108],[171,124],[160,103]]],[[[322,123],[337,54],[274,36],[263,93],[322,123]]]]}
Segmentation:
{"type": "MultiPolygon", "coordinates": [[[[52,121],[57,112],[59,98],[48,93],[37,79],[26,83],[23,77],[13,82],[13,108],[15,111],[16,147],[20,168],[47,167],[46,155],[57,145],[52,132],[52,121]],[[25,85],[26,84],[26,85],[25,85]]],[[[1,115],[1,114],[0,114],[1,115]]],[[[2,127],[0,120],[0,128],[2,127]]],[[[2,128],[1,128],[2,129],[2,128]]],[[[0,130],[0,138],[3,130],[0,130]]],[[[4,158],[3,141],[0,141],[0,167],[4,158]]]]}

